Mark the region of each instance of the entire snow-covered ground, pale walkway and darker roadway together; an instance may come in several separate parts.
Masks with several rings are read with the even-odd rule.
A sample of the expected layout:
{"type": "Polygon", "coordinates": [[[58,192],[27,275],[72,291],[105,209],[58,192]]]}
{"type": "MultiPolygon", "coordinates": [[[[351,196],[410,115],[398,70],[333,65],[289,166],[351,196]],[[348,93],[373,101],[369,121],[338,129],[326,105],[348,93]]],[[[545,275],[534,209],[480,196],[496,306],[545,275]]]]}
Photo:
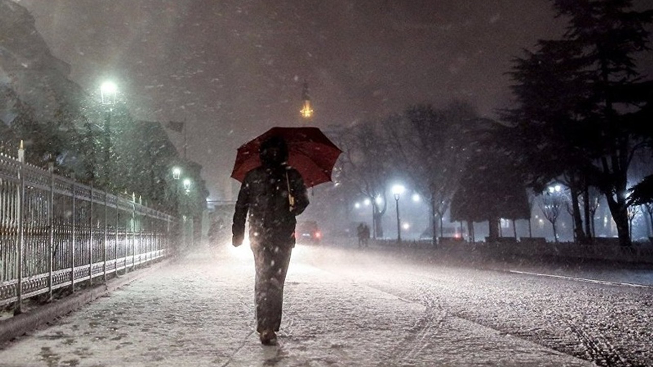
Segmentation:
{"type": "Polygon", "coordinates": [[[245,247],[198,251],[0,350],[0,366],[652,366],[653,291],[298,246],[278,347],[245,247]],[[581,358],[577,358],[577,357],[581,358]]]}

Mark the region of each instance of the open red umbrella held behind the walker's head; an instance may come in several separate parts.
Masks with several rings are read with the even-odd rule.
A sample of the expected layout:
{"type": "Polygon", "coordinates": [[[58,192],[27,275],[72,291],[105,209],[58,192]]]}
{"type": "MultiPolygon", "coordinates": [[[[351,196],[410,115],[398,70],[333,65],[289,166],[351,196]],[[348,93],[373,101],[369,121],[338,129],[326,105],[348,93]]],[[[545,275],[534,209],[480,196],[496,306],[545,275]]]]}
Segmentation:
{"type": "Polygon", "coordinates": [[[238,148],[231,177],[242,182],[247,172],[261,165],[259,147],[272,136],[281,136],[288,144],[288,164],[296,168],[306,187],[331,181],[340,148],[317,127],[272,127],[238,148]]]}

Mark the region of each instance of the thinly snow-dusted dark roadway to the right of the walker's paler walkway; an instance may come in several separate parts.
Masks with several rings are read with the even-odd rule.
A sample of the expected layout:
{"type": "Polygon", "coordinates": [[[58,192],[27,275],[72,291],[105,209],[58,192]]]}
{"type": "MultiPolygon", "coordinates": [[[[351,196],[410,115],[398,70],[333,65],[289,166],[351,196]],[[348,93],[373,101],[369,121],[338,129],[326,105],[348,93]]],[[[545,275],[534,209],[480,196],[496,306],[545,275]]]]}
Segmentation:
{"type": "Polygon", "coordinates": [[[653,366],[652,270],[532,264],[501,269],[481,264],[496,270],[476,270],[425,255],[416,263],[415,254],[406,259],[388,251],[375,251],[373,257],[323,252],[328,255],[313,258],[313,264],[361,285],[435,304],[451,316],[601,366],[653,366]]]}

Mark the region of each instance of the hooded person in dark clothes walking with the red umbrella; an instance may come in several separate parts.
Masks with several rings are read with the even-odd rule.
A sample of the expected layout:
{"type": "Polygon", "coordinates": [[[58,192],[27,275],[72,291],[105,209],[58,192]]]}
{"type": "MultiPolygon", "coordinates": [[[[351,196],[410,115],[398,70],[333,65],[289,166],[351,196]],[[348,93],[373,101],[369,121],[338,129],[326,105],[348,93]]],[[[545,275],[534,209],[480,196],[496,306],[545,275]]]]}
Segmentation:
{"type": "Polygon", "coordinates": [[[240,246],[249,219],[249,243],[256,268],[257,332],[264,345],[276,345],[281,325],[283,284],[295,247],[295,216],[309,204],[301,174],[287,164],[283,138],[272,136],[259,149],[261,166],[247,172],[236,200],[232,245],[240,246]]]}

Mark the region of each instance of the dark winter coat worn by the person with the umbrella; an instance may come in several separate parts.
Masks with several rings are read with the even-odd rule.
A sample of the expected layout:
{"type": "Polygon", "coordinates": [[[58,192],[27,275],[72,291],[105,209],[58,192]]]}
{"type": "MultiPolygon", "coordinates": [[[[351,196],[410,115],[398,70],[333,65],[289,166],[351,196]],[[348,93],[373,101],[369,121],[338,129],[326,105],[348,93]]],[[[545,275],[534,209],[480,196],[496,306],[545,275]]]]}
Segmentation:
{"type": "Polygon", "coordinates": [[[284,164],[264,165],[249,171],[236,201],[232,226],[234,245],[242,243],[248,218],[251,246],[295,246],[295,215],[304,212],[306,206],[306,186],[295,168],[284,164]],[[295,198],[292,208],[289,188],[295,198]]]}

